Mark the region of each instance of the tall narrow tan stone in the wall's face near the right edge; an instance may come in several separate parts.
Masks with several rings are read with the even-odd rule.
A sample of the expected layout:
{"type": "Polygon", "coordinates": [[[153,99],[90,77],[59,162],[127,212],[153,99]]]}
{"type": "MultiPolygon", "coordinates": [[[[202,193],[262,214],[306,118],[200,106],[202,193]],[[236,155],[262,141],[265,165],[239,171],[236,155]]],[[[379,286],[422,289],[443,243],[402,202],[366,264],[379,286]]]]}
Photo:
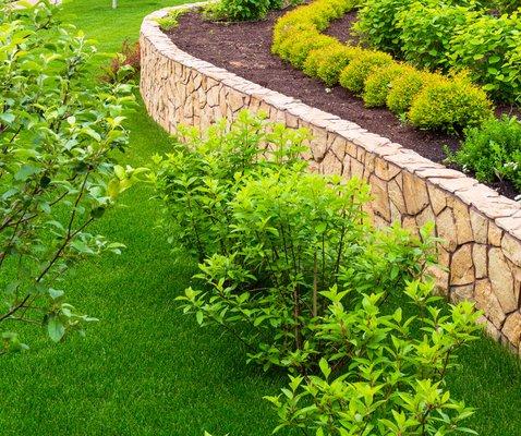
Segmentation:
{"type": "Polygon", "coordinates": [[[507,261],[499,249],[488,251],[488,276],[492,289],[505,313],[518,308],[518,298],[513,292],[513,278],[507,261]]]}

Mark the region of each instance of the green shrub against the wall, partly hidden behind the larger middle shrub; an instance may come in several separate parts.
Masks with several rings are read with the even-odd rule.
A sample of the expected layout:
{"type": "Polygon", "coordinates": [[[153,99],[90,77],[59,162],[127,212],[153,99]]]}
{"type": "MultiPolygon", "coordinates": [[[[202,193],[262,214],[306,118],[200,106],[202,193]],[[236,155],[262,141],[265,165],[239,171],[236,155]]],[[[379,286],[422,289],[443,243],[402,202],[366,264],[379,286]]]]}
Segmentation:
{"type": "Polygon", "coordinates": [[[170,242],[203,261],[216,252],[228,253],[229,202],[244,178],[295,162],[307,133],[241,111],[230,128],[222,120],[205,136],[194,129],[183,134],[185,144],[155,157],[150,180],[165,204],[170,242]]]}

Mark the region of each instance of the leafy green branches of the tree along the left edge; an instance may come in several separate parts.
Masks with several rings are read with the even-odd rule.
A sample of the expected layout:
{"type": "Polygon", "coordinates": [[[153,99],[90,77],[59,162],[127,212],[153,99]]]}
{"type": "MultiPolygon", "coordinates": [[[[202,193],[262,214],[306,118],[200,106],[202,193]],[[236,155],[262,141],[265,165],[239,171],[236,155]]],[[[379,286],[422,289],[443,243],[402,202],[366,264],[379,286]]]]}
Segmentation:
{"type": "Polygon", "coordinates": [[[86,231],[142,170],[117,166],[130,85],[84,84],[95,47],[54,7],[0,3],[0,354],[13,329],[44,325],[58,342],[90,322],[60,289],[71,265],[121,244],[86,231]]]}

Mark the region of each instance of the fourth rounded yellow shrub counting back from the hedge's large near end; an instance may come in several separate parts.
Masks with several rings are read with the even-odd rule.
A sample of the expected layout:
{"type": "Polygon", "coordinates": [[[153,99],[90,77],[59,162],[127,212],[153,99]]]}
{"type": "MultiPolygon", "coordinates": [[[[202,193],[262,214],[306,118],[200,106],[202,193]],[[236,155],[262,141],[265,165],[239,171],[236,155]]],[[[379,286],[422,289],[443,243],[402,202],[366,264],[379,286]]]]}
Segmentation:
{"type": "Polygon", "coordinates": [[[342,70],[340,85],[355,94],[361,94],[365,80],[374,69],[393,63],[390,55],[381,51],[364,51],[342,70]]]}

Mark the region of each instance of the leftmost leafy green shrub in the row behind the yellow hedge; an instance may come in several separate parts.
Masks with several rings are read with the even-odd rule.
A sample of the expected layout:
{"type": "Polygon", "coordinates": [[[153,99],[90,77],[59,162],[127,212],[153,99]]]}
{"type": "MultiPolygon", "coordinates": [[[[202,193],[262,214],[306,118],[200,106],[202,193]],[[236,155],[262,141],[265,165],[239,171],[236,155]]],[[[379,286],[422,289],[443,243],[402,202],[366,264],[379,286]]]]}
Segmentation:
{"type": "Polygon", "coordinates": [[[354,25],[362,40],[374,48],[401,55],[398,14],[409,9],[414,0],[365,0],[354,25]]]}

